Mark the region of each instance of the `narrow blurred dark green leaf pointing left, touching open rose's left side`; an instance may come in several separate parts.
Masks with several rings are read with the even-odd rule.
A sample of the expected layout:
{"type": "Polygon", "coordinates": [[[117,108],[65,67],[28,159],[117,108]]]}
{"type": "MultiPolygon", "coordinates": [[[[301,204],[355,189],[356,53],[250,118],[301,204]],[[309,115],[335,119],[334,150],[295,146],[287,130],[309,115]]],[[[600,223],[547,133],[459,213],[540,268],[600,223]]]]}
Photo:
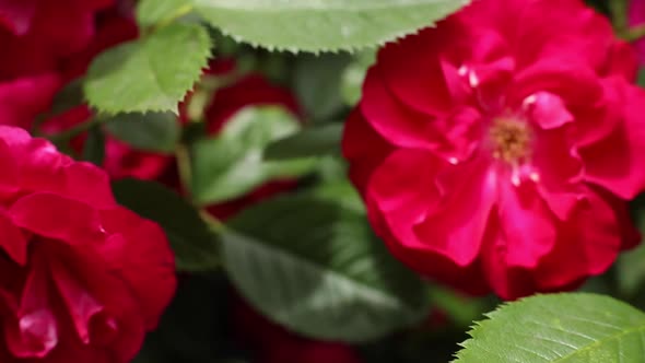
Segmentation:
{"type": "Polygon", "coordinates": [[[265,151],[265,159],[289,160],[340,154],[342,129],[342,124],[305,128],[271,143],[265,151]]]}

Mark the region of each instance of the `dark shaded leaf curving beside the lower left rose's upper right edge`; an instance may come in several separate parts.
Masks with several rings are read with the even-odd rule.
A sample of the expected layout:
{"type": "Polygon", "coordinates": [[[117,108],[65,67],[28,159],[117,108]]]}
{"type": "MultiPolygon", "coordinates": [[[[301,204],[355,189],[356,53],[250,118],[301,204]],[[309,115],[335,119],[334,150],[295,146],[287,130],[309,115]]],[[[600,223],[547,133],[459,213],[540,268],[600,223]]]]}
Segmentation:
{"type": "Polygon", "coordinates": [[[124,179],[113,184],[117,201],[157,222],[175,253],[177,270],[207,271],[219,265],[214,234],[195,208],[157,183],[124,179]]]}

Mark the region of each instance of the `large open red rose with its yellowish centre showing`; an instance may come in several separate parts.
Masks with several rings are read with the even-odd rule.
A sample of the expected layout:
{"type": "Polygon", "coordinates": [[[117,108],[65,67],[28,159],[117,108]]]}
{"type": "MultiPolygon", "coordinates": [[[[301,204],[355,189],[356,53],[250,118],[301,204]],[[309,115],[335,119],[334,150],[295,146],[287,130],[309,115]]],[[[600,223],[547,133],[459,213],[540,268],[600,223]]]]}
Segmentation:
{"type": "Polygon", "coordinates": [[[645,94],[579,0],[480,0],[378,54],[344,132],[374,229],[419,272],[504,298],[573,289],[640,236],[645,94]]]}

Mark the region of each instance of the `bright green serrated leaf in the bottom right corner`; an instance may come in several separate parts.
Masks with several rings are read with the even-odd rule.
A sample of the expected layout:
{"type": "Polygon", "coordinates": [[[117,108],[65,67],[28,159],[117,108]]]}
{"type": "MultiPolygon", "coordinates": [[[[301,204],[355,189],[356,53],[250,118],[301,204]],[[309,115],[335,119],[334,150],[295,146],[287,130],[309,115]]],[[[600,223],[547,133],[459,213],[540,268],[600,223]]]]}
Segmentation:
{"type": "Polygon", "coordinates": [[[645,314],[602,295],[528,297],[489,314],[469,333],[457,363],[641,363],[645,356],[645,314]]]}

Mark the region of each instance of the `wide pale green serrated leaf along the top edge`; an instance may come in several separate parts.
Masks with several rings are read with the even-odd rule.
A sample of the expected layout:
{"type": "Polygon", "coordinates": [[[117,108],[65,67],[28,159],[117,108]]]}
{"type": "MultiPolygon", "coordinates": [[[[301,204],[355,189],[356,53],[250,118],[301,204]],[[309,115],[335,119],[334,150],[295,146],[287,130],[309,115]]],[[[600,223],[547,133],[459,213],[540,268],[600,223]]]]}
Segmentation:
{"type": "Polygon", "coordinates": [[[192,0],[223,33],[291,51],[353,50],[431,26],[468,0],[192,0]]]}

